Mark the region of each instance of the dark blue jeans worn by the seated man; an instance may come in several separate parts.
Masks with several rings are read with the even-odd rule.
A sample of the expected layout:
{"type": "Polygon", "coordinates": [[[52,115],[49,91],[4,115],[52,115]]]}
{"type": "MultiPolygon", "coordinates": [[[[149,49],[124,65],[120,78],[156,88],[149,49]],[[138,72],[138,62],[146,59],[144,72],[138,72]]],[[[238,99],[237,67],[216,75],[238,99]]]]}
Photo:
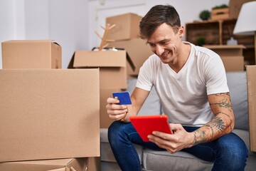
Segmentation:
{"type": "MultiPolygon", "coordinates": [[[[188,132],[198,128],[184,127],[188,132]]],[[[139,156],[132,143],[151,150],[164,150],[153,142],[144,142],[131,123],[115,121],[108,129],[108,139],[119,167],[125,170],[141,170],[139,156]]],[[[212,170],[245,170],[247,147],[238,135],[230,133],[217,140],[183,149],[192,155],[213,163],[212,170]]]]}

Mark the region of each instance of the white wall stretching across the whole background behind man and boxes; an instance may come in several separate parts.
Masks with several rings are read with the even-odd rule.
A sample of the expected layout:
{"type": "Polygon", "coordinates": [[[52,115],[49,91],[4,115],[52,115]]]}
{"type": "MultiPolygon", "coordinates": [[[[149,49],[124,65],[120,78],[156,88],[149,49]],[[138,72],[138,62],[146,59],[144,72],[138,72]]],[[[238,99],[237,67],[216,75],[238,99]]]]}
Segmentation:
{"type": "MultiPolygon", "coordinates": [[[[130,0],[134,1],[134,0],[130,0]]],[[[0,42],[11,39],[51,39],[62,46],[63,68],[67,68],[74,51],[92,48],[90,25],[97,15],[90,9],[107,9],[110,4],[127,4],[127,0],[0,0],[0,42]]],[[[156,4],[173,5],[181,24],[199,20],[204,9],[228,4],[229,0],[137,0],[146,4],[146,14],[156,4]]],[[[133,2],[134,3],[134,2],[133,2]]],[[[122,11],[121,11],[122,12],[122,11]]],[[[133,12],[132,8],[131,11],[133,12]]],[[[110,14],[109,14],[110,15],[110,14]]],[[[97,38],[97,36],[95,36],[97,38]]],[[[1,50],[0,50],[1,68],[1,50]]]]}

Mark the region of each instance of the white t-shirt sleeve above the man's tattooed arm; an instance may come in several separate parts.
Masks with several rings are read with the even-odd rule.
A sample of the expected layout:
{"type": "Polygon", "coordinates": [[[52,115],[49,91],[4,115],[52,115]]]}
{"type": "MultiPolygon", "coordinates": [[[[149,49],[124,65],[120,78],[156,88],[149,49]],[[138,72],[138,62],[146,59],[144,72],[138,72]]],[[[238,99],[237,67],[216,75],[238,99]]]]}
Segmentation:
{"type": "Polygon", "coordinates": [[[206,63],[205,71],[207,95],[229,92],[223,61],[218,54],[206,63]]]}

